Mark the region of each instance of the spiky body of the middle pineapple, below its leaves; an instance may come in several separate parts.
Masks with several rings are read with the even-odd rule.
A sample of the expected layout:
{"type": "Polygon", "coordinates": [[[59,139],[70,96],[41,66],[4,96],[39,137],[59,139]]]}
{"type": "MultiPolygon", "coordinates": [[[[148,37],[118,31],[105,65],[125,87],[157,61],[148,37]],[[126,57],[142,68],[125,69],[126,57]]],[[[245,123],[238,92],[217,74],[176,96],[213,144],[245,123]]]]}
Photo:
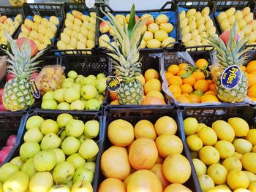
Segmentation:
{"type": "Polygon", "coordinates": [[[119,104],[142,104],[143,102],[143,85],[139,80],[131,82],[122,82],[121,88],[117,92],[119,104]]]}

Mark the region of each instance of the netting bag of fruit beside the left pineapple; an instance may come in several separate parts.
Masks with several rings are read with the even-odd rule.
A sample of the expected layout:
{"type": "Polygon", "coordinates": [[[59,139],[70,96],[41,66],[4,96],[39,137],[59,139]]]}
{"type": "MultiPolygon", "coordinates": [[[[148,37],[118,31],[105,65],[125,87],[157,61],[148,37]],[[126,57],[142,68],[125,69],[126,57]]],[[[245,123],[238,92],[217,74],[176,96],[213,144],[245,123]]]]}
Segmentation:
{"type": "Polygon", "coordinates": [[[49,65],[42,68],[35,80],[41,95],[61,88],[61,83],[65,80],[64,69],[61,65],[49,65]]]}

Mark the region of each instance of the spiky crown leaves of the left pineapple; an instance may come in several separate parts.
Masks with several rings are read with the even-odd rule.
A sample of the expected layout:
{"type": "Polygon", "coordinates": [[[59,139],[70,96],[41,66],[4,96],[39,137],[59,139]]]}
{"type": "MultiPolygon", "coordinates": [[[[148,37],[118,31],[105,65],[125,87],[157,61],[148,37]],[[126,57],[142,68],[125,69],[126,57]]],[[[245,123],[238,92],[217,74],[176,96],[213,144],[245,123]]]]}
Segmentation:
{"type": "Polygon", "coordinates": [[[10,57],[7,58],[7,62],[10,63],[10,65],[7,66],[8,72],[15,74],[15,77],[29,78],[33,72],[37,71],[37,65],[41,61],[36,60],[45,52],[45,50],[39,51],[37,55],[31,58],[31,46],[29,45],[29,39],[23,43],[21,50],[19,50],[15,40],[12,39],[6,30],[4,30],[4,34],[7,37],[7,41],[10,43],[11,48],[11,50],[3,49],[4,53],[7,53],[7,55],[10,57]]]}

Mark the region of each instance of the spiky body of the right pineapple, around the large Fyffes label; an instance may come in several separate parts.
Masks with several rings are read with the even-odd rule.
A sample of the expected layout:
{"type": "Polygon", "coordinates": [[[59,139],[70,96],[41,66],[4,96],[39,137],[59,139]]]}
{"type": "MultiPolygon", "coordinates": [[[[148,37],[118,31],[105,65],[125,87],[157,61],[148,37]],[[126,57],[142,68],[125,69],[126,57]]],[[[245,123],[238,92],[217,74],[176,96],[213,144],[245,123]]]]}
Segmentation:
{"type": "Polygon", "coordinates": [[[220,100],[228,103],[236,103],[244,101],[247,94],[247,77],[244,72],[241,72],[241,80],[235,88],[225,89],[222,86],[221,75],[216,82],[216,93],[220,100]]]}

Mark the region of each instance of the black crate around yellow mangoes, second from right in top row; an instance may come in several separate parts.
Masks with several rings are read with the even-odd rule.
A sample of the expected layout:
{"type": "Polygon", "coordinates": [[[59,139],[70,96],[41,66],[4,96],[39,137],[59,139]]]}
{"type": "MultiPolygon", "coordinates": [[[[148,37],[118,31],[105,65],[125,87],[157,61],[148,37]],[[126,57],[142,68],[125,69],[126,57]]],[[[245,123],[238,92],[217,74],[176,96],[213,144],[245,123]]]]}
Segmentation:
{"type": "MultiPolygon", "coordinates": [[[[200,0],[189,0],[189,1],[186,1],[186,0],[179,0],[177,1],[177,4],[178,4],[178,18],[177,18],[177,23],[178,23],[178,33],[180,34],[180,38],[182,37],[181,36],[181,25],[180,25],[180,18],[179,18],[179,13],[182,11],[182,10],[187,10],[188,9],[196,9],[197,11],[202,11],[203,8],[205,7],[209,7],[210,8],[210,14],[209,14],[209,17],[211,18],[211,20],[213,21],[214,23],[214,26],[216,28],[216,32],[217,34],[219,35],[218,33],[218,28],[217,28],[217,25],[215,23],[215,20],[214,20],[214,1],[211,1],[211,0],[203,0],[203,1],[200,1],[200,0]]],[[[197,45],[197,46],[189,46],[189,47],[186,47],[184,45],[183,42],[181,42],[181,50],[186,50],[186,51],[200,51],[200,50],[214,50],[214,47],[212,47],[211,45],[197,45]]]]}

